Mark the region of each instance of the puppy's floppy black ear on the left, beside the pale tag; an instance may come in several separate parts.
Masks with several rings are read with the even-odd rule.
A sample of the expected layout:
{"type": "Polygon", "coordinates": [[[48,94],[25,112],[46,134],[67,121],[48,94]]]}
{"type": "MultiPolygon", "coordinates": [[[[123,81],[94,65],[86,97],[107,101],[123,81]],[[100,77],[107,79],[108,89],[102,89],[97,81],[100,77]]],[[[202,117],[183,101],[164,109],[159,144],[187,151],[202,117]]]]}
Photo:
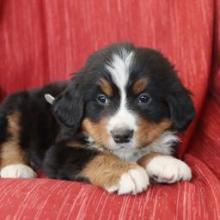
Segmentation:
{"type": "Polygon", "coordinates": [[[58,121],[76,131],[83,117],[83,109],[84,101],[79,80],[73,79],[53,102],[53,112],[58,121]]]}

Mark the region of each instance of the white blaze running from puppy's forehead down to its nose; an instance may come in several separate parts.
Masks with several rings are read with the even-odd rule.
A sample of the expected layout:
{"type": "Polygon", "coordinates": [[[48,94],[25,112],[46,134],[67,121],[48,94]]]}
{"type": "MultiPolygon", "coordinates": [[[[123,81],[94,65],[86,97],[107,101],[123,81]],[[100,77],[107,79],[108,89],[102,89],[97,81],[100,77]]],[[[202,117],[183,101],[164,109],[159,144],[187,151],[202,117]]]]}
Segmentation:
{"type": "Polygon", "coordinates": [[[129,80],[130,68],[134,61],[134,52],[122,49],[117,54],[113,54],[112,61],[106,65],[115,85],[120,91],[120,106],[115,115],[108,123],[109,131],[114,128],[126,128],[136,130],[136,118],[133,112],[127,108],[126,85],[129,80]]]}

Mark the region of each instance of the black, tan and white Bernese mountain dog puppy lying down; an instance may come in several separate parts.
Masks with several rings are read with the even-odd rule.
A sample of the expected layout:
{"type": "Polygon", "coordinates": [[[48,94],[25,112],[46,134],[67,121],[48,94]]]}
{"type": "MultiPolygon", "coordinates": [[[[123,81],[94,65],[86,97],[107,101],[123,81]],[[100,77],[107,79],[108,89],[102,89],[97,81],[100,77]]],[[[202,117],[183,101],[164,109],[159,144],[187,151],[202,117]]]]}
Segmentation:
{"type": "Polygon", "coordinates": [[[130,43],[92,54],[69,81],[21,91],[0,107],[1,178],[85,181],[137,194],[150,179],[189,181],[172,155],[195,110],[158,51],[130,43]]]}

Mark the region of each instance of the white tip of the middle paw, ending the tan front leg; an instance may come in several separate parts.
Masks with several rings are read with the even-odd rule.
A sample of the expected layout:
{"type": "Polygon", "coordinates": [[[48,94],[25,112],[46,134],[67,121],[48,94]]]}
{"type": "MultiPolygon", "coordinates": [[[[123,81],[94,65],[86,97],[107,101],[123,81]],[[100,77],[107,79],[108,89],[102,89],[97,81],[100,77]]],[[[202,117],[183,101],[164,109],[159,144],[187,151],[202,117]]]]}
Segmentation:
{"type": "Polygon", "coordinates": [[[122,194],[137,194],[143,192],[149,185],[149,178],[146,171],[142,168],[131,169],[121,175],[117,185],[106,188],[108,192],[122,194]]]}

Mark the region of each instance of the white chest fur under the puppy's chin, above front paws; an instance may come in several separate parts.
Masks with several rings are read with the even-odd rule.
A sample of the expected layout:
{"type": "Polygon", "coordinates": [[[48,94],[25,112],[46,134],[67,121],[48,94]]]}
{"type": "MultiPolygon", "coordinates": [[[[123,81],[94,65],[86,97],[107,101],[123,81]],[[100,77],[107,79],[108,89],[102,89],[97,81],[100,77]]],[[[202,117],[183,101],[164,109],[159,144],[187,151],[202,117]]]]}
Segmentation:
{"type": "Polygon", "coordinates": [[[162,153],[165,155],[171,155],[173,153],[173,144],[178,142],[179,138],[175,135],[174,132],[165,131],[160,135],[159,138],[154,140],[151,144],[144,148],[132,148],[126,146],[124,148],[113,150],[112,153],[117,155],[123,160],[128,161],[137,161],[145,154],[151,152],[162,153]]]}

